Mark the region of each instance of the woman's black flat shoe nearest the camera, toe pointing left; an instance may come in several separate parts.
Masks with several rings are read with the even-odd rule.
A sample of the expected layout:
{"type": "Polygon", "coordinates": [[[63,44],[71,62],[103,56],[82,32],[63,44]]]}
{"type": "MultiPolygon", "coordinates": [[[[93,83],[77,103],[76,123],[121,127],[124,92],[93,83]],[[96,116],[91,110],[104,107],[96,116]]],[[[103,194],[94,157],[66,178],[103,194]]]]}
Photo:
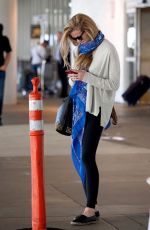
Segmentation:
{"type": "Polygon", "coordinates": [[[71,225],[88,225],[88,224],[94,224],[97,221],[97,217],[94,216],[90,216],[87,217],[85,215],[79,215],[76,216],[73,221],[71,221],[71,225]]]}

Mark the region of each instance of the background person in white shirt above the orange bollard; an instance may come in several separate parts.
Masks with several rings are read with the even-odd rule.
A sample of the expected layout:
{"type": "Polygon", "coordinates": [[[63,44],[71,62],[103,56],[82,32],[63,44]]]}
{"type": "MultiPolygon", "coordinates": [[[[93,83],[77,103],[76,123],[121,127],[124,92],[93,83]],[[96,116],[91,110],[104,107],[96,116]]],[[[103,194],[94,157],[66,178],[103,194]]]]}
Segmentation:
{"type": "Polygon", "coordinates": [[[31,49],[31,69],[36,76],[40,75],[42,61],[47,58],[47,46],[48,41],[44,40],[31,49]]]}

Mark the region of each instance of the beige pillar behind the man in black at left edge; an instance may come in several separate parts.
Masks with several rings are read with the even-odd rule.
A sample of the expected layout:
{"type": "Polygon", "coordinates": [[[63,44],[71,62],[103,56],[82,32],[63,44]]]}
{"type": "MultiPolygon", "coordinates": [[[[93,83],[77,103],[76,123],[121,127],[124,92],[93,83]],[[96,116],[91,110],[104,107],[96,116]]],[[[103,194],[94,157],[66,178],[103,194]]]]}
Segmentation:
{"type": "Polygon", "coordinates": [[[17,0],[0,0],[0,23],[4,25],[4,34],[9,37],[13,50],[6,75],[4,103],[14,104],[17,101],[17,0]]]}

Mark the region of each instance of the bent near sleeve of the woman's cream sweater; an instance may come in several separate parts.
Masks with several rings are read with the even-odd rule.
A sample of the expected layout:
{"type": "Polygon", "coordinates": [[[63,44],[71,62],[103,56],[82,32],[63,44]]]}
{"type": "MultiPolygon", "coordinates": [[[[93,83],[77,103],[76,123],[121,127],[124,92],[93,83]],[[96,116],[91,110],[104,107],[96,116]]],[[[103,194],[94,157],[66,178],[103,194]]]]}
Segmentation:
{"type": "Polygon", "coordinates": [[[103,77],[101,75],[96,76],[90,72],[86,72],[83,81],[104,90],[117,90],[120,83],[120,64],[115,49],[110,52],[108,68],[108,77],[103,77]]]}

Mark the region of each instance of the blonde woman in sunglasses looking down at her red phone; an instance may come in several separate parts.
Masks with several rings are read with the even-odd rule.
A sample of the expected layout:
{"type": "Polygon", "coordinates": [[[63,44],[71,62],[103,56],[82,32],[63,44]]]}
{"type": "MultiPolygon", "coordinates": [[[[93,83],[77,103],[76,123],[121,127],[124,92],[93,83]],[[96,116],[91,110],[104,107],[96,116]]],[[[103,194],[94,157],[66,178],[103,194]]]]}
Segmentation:
{"type": "Polygon", "coordinates": [[[68,75],[73,85],[70,92],[73,98],[72,158],[87,199],[83,213],[71,224],[85,225],[95,223],[99,217],[96,150],[103,128],[110,121],[120,68],[116,49],[89,16],[77,14],[64,28],[61,54],[69,68],[70,42],[77,46],[76,74],[68,75]]]}

